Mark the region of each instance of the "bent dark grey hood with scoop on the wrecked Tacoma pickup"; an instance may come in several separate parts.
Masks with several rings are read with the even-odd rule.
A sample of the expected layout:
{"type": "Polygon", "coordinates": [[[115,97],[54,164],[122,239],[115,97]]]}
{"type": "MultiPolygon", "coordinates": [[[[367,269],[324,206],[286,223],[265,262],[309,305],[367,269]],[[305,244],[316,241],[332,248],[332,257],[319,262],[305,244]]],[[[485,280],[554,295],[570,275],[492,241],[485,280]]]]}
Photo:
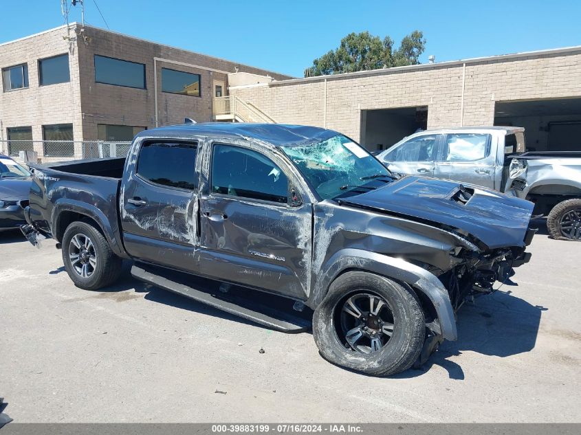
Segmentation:
{"type": "Polygon", "coordinates": [[[427,177],[404,177],[341,203],[449,225],[490,249],[524,246],[534,208],[529,201],[494,190],[427,177]]]}

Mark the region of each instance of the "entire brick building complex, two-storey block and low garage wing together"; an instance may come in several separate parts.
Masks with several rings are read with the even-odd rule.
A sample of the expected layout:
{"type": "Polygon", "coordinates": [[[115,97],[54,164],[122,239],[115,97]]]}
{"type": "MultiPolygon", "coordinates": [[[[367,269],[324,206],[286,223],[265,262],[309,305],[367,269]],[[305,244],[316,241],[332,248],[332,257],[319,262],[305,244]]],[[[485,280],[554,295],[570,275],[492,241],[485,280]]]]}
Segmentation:
{"type": "Polygon", "coordinates": [[[294,79],[74,23],[0,44],[0,68],[0,151],[54,141],[34,142],[44,160],[186,117],[323,126],[371,150],[514,125],[532,150],[581,150],[581,47],[294,79]]]}

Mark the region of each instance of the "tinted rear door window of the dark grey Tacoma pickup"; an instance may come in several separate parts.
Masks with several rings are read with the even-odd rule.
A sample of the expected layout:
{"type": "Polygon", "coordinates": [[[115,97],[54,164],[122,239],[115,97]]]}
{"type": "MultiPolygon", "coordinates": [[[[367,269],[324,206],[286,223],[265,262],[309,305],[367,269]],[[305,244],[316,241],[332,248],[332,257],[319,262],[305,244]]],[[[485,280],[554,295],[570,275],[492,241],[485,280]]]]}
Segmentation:
{"type": "Polygon", "coordinates": [[[162,186],[193,190],[196,179],[196,144],[153,142],[142,146],[137,173],[162,186]]]}

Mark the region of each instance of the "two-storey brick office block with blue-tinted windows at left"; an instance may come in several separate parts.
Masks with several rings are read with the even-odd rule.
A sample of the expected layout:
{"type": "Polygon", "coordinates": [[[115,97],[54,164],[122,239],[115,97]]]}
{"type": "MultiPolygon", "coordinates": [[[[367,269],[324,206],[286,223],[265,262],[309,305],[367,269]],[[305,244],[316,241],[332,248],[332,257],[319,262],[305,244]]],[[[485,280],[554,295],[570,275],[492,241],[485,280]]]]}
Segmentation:
{"type": "Polygon", "coordinates": [[[78,23],[1,43],[0,68],[0,152],[26,147],[12,141],[9,150],[11,138],[75,142],[74,150],[34,143],[39,157],[55,159],[83,157],[78,141],[131,140],[186,117],[211,121],[212,98],[227,92],[229,73],[289,78],[78,23]]]}

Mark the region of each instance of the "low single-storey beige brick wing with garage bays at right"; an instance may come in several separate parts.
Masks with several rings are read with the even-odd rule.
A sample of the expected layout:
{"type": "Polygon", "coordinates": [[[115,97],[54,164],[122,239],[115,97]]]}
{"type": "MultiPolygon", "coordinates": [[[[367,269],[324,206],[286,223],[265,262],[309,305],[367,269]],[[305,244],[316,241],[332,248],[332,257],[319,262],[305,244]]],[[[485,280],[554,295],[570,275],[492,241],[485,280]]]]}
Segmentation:
{"type": "Polygon", "coordinates": [[[515,125],[536,150],[581,150],[581,47],[231,87],[276,122],[375,150],[418,128],[515,125]]]}

